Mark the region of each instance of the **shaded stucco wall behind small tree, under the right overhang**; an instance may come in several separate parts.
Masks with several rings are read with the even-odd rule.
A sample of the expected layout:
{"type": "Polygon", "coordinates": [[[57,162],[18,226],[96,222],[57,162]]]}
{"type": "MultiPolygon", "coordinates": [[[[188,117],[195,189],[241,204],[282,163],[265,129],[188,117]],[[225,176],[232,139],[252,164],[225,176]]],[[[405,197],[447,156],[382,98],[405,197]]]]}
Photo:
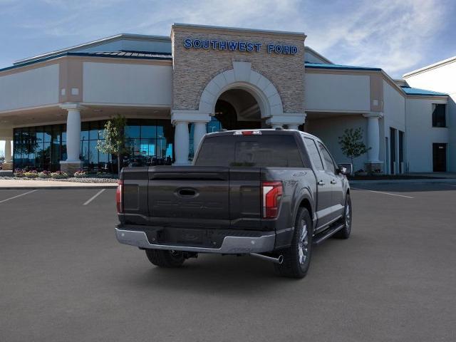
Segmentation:
{"type": "MultiPolygon", "coordinates": [[[[320,138],[328,150],[333,155],[336,162],[350,162],[343,155],[341,146],[338,144],[338,137],[343,135],[346,128],[363,129],[364,143],[367,145],[367,119],[361,115],[343,115],[343,116],[328,116],[328,118],[310,118],[306,120],[306,131],[320,138]]],[[[362,155],[354,160],[354,169],[364,169],[364,162],[367,161],[367,155],[362,155]]]]}

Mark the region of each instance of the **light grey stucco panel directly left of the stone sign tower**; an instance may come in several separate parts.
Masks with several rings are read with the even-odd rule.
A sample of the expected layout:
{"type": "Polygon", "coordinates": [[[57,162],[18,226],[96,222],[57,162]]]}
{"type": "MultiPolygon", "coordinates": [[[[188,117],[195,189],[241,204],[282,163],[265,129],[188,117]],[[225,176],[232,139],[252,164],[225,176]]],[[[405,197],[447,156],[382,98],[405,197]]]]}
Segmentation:
{"type": "Polygon", "coordinates": [[[172,67],[83,63],[83,101],[171,106],[172,67]]]}

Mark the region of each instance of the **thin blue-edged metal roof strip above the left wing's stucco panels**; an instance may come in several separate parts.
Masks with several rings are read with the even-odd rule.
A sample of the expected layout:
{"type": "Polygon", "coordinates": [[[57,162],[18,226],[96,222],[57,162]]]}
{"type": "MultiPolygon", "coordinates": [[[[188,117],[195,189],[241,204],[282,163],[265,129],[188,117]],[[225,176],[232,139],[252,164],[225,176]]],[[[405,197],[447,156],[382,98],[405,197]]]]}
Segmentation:
{"type": "Polygon", "coordinates": [[[26,63],[16,64],[14,66],[7,66],[6,68],[0,69],[0,71],[6,71],[22,66],[29,66],[31,64],[40,63],[43,61],[50,61],[51,59],[60,58],[64,56],[86,56],[86,57],[108,57],[108,58],[133,58],[133,59],[155,59],[162,61],[172,61],[171,53],[164,52],[146,52],[146,51],[106,51],[106,52],[64,52],[58,55],[53,55],[45,58],[35,59],[26,63]]]}

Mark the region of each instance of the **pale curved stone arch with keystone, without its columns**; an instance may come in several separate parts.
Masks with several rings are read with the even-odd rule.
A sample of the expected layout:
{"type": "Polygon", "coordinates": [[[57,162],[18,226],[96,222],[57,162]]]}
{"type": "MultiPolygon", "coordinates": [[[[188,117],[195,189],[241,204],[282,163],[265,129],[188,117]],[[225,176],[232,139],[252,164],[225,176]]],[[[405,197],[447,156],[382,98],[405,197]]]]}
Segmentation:
{"type": "Polygon", "coordinates": [[[252,70],[252,63],[233,62],[231,70],[212,78],[199,99],[199,113],[214,115],[215,105],[222,93],[230,89],[242,89],[250,93],[259,105],[261,118],[283,115],[282,101],[274,84],[252,70]]]}

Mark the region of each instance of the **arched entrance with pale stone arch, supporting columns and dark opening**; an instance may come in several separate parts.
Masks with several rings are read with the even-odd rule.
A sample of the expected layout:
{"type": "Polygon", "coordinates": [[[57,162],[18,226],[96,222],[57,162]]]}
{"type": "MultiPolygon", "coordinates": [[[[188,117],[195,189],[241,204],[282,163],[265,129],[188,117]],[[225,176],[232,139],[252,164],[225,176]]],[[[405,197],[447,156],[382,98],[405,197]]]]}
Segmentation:
{"type": "Polygon", "coordinates": [[[276,87],[252,70],[252,63],[232,63],[231,70],[217,74],[207,83],[196,110],[172,110],[175,165],[189,164],[204,134],[221,128],[238,130],[285,125],[296,129],[304,123],[303,113],[284,114],[276,87]]]}

